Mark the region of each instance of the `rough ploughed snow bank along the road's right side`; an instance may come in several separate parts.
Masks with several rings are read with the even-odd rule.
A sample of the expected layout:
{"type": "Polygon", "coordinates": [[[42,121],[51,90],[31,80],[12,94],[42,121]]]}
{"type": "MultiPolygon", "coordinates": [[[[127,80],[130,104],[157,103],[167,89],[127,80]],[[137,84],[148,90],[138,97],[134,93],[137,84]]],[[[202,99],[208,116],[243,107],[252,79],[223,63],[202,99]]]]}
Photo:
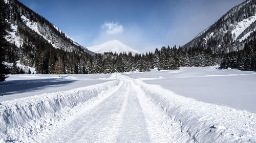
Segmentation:
{"type": "MultiPolygon", "coordinates": [[[[194,142],[255,142],[256,114],[203,103],[134,80],[147,98],[164,110],[194,142]]],[[[172,124],[169,125],[172,128],[172,124]]],[[[177,138],[178,139],[178,138],[177,138]]]]}

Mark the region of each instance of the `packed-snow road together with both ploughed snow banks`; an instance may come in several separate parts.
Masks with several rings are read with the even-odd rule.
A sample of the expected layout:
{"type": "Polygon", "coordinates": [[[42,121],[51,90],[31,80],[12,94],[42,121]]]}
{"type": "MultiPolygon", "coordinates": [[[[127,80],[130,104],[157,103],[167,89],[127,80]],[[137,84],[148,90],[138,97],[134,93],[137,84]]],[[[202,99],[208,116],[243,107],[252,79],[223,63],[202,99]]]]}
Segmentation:
{"type": "Polygon", "coordinates": [[[86,88],[6,101],[0,113],[2,141],[256,141],[254,113],[185,98],[121,74],[86,88]]]}

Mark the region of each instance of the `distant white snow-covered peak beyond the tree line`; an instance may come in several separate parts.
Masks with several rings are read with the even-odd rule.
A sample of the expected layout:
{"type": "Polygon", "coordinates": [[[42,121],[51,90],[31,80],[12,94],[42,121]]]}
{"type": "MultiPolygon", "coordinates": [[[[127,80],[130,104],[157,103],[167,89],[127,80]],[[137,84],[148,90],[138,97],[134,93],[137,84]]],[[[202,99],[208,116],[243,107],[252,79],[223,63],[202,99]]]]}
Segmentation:
{"type": "Polygon", "coordinates": [[[112,40],[105,42],[100,45],[87,47],[89,50],[96,52],[96,53],[104,53],[104,52],[113,52],[113,53],[123,53],[123,52],[132,52],[132,54],[139,53],[139,51],[123,44],[122,42],[118,40],[112,40]]]}

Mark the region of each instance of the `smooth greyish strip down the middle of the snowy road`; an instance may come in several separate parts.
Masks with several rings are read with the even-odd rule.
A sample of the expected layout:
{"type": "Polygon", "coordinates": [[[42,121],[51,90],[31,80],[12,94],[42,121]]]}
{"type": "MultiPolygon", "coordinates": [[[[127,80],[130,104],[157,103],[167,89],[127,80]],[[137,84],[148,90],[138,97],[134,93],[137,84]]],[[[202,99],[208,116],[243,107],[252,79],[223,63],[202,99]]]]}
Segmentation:
{"type": "Polygon", "coordinates": [[[117,142],[150,142],[150,136],[148,134],[144,113],[140,106],[134,88],[131,86],[131,82],[127,87],[127,105],[125,112],[123,113],[122,123],[119,128],[119,135],[117,136],[117,142]]]}

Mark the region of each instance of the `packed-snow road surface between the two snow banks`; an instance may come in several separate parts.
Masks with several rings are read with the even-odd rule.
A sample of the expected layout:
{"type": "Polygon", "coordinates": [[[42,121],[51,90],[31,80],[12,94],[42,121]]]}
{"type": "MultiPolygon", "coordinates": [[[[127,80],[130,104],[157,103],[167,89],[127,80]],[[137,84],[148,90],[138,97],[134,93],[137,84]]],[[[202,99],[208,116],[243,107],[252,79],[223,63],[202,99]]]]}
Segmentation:
{"type": "Polygon", "coordinates": [[[169,142],[164,127],[154,118],[138,87],[121,77],[120,88],[76,118],[40,133],[36,142],[169,142]]]}

